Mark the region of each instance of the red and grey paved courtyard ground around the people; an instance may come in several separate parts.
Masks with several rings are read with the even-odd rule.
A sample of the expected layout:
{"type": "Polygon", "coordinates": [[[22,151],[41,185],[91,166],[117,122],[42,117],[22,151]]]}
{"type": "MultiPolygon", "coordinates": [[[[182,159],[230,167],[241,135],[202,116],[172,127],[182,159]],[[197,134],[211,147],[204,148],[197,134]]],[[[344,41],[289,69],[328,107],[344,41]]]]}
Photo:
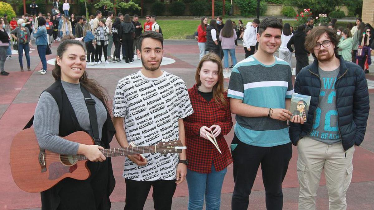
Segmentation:
{"type": "MultiPolygon", "coordinates": [[[[47,55],[48,73],[40,75],[37,71],[42,68],[42,64],[37,54],[36,47],[31,49],[31,72],[19,71],[18,55],[13,54],[13,59],[5,63],[9,76],[0,77],[0,209],[40,209],[40,194],[33,194],[21,191],[13,182],[9,167],[9,148],[13,137],[18,133],[33,116],[40,93],[53,83],[51,71],[53,60],[58,43],[52,45],[52,55],[47,55]]],[[[114,50],[114,47],[112,48],[114,50]]],[[[199,48],[194,40],[166,40],[164,42],[165,63],[162,70],[178,75],[185,82],[188,88],[195,83],[194,74],[199,62],[199,48]],[[167,58],[167,59],[166,59],[167,58]]],[[[113,51],[112,51],[113,53],[113,51]]],[[[243,47],[236,48],[238,61],[244,59],[243,47]]],[[[312,61],[310,61],[312,62],[312,61]]],[[[26,61],[24,58],[24,65],[26,61]]],[[[371,72],[374,72],[372,65],[371,72]]],[[[293,58],[295,67],[295,58],[293,58]]],[[[113,98],[117,81],[132,74],[141,68],[140,61],[134,64],[109,64],[96,65],[88,68],[91,78],[95,78],[104,86],[113,98]]],[[[374,106],[374,74],[367,74],[370,93],[370,106],[374,106]]],[[[227,87],[229,79],[225,80],[227,87]]],[[[233,117],[234,120],[234,117],[233,117]]],[[[229,144],[233,138],[233,129],[226,136],[229,144]]],[[[113,139],[111,147],[119,147],[117,141],[113,139]]],[[[123,209],[125,205],[125,181],[122,178],[123,157],[112,159],[114,175],[116,178],[116,188],[111,195],[112,209],[123,209]]],[[[292,159],[289,169],[283,182],[284,209],[297,209],[298,202],[298,181],[296,173],[297,148],[293,146],[292,159]]],[[[347,192],[348,209],[374,209],[374,118],[370,113],[365,140],[360,147],[356,147],[353,158],[353,178],[347,192]]],[[[233,165],[228,167],[228,172],[224,180],[222,189],[221,209],[231,209],[231,196],[233,192],[233,165]]],[[[27,177],[25,177],[27,178],[27,177]]],[[[328,195],[325,186],[325,178],[322,177],[317,194],[317,209],[328,209],[328,195]]],[[[187,209],[188,188],[184,182],[178,185],[173,199],[172,209],[187,209]]],[[[153,200],[150,196],[144,209],[153,209],[153,200]]],[[[265,192],[261,178],[261,170],[258,171],[257,179],[253,186],[252,194],[249,197],[248,209],[266,209],[265,192]]]]}

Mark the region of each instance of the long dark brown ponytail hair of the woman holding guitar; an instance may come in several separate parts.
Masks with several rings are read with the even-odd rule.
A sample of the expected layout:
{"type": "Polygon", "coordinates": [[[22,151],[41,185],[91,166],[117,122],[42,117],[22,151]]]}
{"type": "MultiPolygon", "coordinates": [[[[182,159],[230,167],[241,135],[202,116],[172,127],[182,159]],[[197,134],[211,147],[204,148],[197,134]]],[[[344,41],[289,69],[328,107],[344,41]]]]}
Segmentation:
{"type": "MultiPolygon", "coordinates": [[[[57,47],[57,55],[62,58],[64,52],[69,48],[69,46],[72,45],[81,46],[86,52],[82,41],[74,40],[73,35],[65,35],[62,37],[62,41],[57,47]]],[[[57,65],[57,61],[55,61],[55,68],[52,70],[52,76],[55,78],[55,80],[61,79],[61,67],[57,65]]],[[[83,73],[82,77],[79,78],[79,82],[88,92],[100,99],[109,112],[111,111],[111,109],[108,109],[108,92],[104,87],[99,85],[96,80],[89,79],[86,71],[83,73]]]]}

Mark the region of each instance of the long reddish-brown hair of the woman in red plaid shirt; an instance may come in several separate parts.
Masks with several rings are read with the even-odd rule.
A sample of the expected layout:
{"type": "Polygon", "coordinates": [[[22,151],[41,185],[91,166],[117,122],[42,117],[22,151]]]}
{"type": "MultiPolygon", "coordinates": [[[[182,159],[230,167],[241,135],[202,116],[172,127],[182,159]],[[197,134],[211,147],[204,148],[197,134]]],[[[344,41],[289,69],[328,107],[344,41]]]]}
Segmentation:
{"type": "Polygon", "coordinates": [[[199,73],[200,73],[201,67],[203,66],[203,63],[205,61],[211,61],[211,62],[216,63],[218,65],[218,81],[213,86],[213,98],[214,98],[214,101],[216,102],[217,105],[221,105],[221,106],[225,107],[225,106],[227,106],[227,101],[226,101],[225,97],[223,96],[223,92],[225,90],[224,90],[224,86],[223,86],[224,78],[223,78],[222,62],[221,62],[220,57],[218,57],[218,55],[216,55],[215,53],[208,53],[208,54],[203,56],[203,58],[200,60],[199,64],[197,65],[197,68],[196,68],[196,74],[195,74],[196,84],[197,84],[197,86],[201,85],[201,80],[200,80],[199,73]]]}

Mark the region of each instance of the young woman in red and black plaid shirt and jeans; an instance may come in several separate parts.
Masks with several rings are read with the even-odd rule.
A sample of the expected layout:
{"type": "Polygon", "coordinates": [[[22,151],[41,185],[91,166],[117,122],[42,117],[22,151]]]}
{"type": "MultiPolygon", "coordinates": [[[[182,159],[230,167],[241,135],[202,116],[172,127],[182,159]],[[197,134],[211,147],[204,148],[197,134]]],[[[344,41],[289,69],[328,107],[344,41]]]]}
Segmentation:
{"type": "Polygon", "coordinates": [[[184,118],[186,130],[188,209],[220,209],[221,189],[226,167],[232,157],[224,135],[233,123],[227,92],[223,86],[221,59],[209,53],[200,60],[195,75],[196,84],[188,89],[194,113],[184,118]],[[209,141],[211,131],[218,149],[209,141]]]}

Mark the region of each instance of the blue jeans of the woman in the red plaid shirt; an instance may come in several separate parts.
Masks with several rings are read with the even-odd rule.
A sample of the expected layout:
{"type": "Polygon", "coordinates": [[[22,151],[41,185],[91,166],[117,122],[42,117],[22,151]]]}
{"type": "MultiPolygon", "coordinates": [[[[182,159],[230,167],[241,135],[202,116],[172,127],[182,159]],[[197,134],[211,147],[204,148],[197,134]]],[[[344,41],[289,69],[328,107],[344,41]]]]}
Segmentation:
{"type": "Polygon", "coordinates": [[[211,173],[198,173],[187,169],[188,210],[201,210],[204,204],[204,195],[206,210],[219,210],[221,204],[221,190],[223,179],[227,168],[219,172],[215,171],[212,164],[211,173]]]}

